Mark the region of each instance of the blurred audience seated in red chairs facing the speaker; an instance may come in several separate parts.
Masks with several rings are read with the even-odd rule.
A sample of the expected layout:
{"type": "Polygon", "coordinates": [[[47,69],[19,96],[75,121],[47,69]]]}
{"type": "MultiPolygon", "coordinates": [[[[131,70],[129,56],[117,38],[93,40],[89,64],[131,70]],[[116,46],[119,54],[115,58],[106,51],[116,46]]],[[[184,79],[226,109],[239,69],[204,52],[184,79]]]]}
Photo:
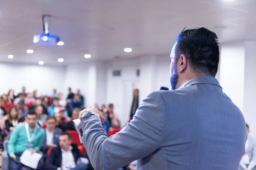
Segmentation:
{"type": "MultiPolygon", "coordinates": [[[[38,170],[93,170],[72,121],[79,118],[79,112],[85,108],[84,103],[80,90],[73,93],[71,88],[68,88],[66,98],[56,89],[50,96],[38,96],[36,90],[28,93],[26,87],[22,87],[17,95],[12,89],[3,94],[0,97],[0,149],[7,156],[3,154],[2,169],[31,169],[19,160],[22,153],[29,149],[32,153],[43,155],[38,170]]],[[[95,106],[105,117],[102,127],[106,133],[111,136],[118,132],[120,124],[113,104],[95,106]]],[[[133,108],[136,111],[137,108],[133,108]]],[[[134,168],[136,163],[134,165],[133,162],[122,170],[134,168]]]]}

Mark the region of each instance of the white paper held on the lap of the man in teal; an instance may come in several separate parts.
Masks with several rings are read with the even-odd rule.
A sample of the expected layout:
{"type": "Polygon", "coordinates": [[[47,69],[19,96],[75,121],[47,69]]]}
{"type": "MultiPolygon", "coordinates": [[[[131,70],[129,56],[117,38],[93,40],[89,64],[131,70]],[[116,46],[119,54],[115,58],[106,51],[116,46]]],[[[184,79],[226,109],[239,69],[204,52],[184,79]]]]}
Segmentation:
{"type": "Polygon", "coordinates": [[[20,156],[20,163],[27,167],[36,169],[42,155],[40,153],[33,153],[30,150],[25,150],[20,156]]]}

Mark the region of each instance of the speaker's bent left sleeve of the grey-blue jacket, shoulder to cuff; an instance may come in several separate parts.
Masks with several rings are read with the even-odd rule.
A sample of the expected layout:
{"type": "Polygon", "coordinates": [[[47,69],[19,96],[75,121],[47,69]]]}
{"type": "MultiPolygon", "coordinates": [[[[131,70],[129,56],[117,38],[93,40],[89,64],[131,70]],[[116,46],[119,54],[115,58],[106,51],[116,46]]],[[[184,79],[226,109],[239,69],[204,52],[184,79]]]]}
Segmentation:
{"type": "Polygon", "coordinates": [[[142,159],[160,148],[165,131],[166,105],[159,92],[152,92],[134,118],[119,133],[108,138],[99,117],[81,120],[82,142],[96,170],[113,170],[142,159]]]}

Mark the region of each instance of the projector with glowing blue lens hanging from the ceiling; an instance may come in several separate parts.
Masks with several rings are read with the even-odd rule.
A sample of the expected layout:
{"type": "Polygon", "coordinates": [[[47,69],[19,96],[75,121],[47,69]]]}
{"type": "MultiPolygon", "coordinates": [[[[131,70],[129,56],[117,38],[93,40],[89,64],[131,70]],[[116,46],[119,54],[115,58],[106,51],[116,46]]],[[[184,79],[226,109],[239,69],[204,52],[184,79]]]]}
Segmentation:
{"type": "Polygon", "coordinates": [[[43,30],[42,34],[34,35],[33,42],[40,44],[48,44],[48,45],[63,45],[64,42],[60,41],[60,37],[58,35],[51,35],[49,33],[49,18],[51,15],[43,15],[43,30]]]}

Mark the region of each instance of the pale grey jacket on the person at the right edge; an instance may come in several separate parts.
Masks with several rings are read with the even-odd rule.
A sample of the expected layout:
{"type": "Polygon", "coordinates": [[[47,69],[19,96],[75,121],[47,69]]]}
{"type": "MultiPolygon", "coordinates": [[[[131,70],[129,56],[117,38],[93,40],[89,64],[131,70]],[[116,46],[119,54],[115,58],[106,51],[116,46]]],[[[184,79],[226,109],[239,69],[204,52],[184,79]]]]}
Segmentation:
{"type": "Polygon", "coordinates": [[[247,167],[247,165],[245,165],[244,162],[241,161],[240,166],[243,169],[248,168],[249,170],[252,170],[256,166],[256,145],[252,137],[248,136],[247,140],[248,140],[248,147],[247,147],[247,150],[245,150],[244,154],[248,154],[250,164],[247,167]]]}

